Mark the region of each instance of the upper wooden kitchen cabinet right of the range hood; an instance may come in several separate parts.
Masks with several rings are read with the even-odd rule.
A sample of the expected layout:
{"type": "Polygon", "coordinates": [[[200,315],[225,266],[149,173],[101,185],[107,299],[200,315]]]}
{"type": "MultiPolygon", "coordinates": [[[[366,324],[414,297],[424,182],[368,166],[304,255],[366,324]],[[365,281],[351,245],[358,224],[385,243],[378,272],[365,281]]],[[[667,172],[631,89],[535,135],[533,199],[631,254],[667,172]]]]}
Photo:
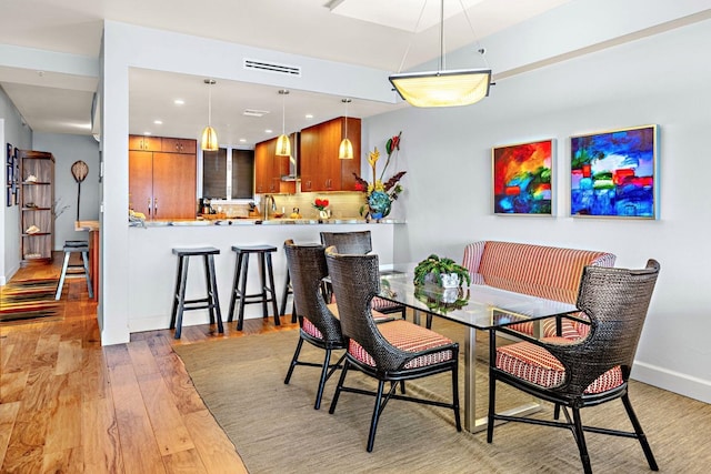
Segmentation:
{"type": "Polygon", "coordinates": [[[360,174],[360,125],[357,118],[337,118],[301,130],[301,191],[354,191],[360,174]],[[346,137],[353,143],[353,159],[338,158],[346,137]]]}

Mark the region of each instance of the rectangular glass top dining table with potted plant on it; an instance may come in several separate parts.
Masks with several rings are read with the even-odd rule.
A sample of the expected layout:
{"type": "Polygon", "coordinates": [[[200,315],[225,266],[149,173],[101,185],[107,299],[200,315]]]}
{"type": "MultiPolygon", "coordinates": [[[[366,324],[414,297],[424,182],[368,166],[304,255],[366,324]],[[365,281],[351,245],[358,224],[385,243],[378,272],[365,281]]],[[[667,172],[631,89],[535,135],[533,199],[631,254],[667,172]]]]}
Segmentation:
{"type": "MultiPolygon", "coordinates": [[[[464,356],[464,428],[470,432],[482,431],[487,417],[477,416],[475,380],[477,331],[487,331],[495,326],[505,326],[524,321],[570,314],[579,311],[575,305],[560,301],[545,300],[522,293],[514,293],[485,284],[472,284],[462,289],[441,289],[431,284],[413,283],[414,264],[395,265],[391,271],[381,271],[380,297],[401,303],[411,309],[415,323],[424,313],[464,325],[467,336],[460,353],[464,356]]],[[[535,333],[534,333],[535,334],[535,333]]],[[[528,414],[540,410],[538,402],[527,402],[509,411],[510,414],[528,414]]]]}

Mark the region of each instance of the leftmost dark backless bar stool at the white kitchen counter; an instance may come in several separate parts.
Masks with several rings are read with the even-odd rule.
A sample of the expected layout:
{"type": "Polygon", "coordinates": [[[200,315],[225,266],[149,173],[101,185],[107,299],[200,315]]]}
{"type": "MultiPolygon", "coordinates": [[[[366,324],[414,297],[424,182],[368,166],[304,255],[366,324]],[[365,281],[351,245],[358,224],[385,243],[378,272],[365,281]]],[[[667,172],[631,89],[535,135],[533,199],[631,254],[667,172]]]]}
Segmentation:
{"type": "Polygon", "coordinates": [[[218,332],[224,332],[222,327],[222,313],[220,312],[220,299],[218,296],[218,284],[214,276],[214,255],[220,254],[220,250],[214,246],[173,249],[173,254],[178,255],[178,273],[176,276],[176,292],[173,294],[173,307],[170,313],[170,329],[176,330],[176,339],[180,339],[182,330],[183,311],[204,310],[210,313],[210,324],[218,323],[218,332]],[[191,256],[202,256],[204,263],[204,281],[207,296],[196,300],[186,300],[186,286],[188,283],[188,263],[191,256]]]}

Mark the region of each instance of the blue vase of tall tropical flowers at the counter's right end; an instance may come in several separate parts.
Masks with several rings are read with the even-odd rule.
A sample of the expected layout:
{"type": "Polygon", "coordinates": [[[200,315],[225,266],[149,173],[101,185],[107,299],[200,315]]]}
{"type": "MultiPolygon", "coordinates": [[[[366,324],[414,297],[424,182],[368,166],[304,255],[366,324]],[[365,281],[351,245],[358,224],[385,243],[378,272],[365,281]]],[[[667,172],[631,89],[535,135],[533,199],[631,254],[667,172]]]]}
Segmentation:
{"type": "Polygon", "coordinates": [[[397,135],[390,138],[385,142],[385,152],[388,153],[388,159],[385,160],[385,165],[380,172],[380,177],[378,177],[377,164],[380,160],[380,151],[378,151],[378,147],[371,152],[368,153],[368,163],[373,173],[373,181],[368,182],[363,180],[358,174],[353,173],[356,177],[356,189],[365,193],[365,204],[363,204],[360,209],[360,215],[363,215],[365,219],[374,219],[375,221],[380,221],[390,214],[392,210],[392,202],[398,199],[398,195],[403,191],[402,185],[400,184],[400,180],[404,175],[405,171],[400,171],[393,174],[388,181],[383,182],[383,178],[385,175],[385,171],[388,171],[388,167],[390,165],[390,160],[393,154],[397,155],[397,152],[400,151],[400,137],[402,132],[397,135]]]}

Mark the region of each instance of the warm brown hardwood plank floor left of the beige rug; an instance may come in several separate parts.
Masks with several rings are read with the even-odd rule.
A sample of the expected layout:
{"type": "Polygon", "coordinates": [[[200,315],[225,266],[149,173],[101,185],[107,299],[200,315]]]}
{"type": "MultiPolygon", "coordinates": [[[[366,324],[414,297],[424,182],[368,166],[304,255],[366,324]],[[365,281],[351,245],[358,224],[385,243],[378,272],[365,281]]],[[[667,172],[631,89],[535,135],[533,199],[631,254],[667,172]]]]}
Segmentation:
{"type": "MultiPolygon", "coordinates": [[[[60,261],[14,279],[59,275],[60,261]]],[[[0,472],[246,473],[171,346],[289,331],[290,317],[247,320],[240,333],[229,324],[224,335],[184,326],[180,341],[151,331],[102,347],[84,281],[68,281],[62,316],[0,324],[0,472]]]]}

